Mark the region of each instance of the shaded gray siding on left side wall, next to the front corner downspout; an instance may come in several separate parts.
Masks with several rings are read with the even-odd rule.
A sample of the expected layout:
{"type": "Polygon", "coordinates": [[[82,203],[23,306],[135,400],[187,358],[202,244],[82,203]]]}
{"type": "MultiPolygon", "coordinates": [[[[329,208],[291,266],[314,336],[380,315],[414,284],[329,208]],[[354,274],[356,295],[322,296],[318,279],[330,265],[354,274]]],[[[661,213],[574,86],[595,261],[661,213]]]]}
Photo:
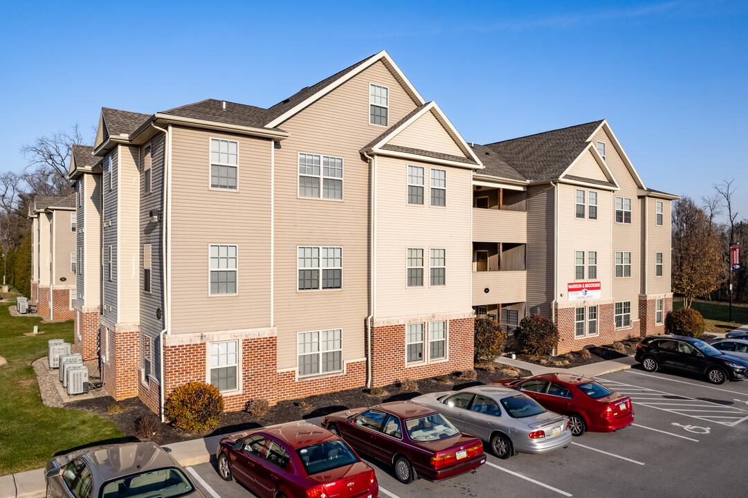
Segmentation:
{"type": "MultiPolygon", "coordinates": [[[[162,254],[162,228],[165,223],[163,218],[163,178],[164,178],[164,150],[165,136],[162,133],[156,135],[150,142],[151,145],[151,187],[150,193],[145,193],[144,183],[144,162],[145,147],[144,144],[140,151],[140,325],[141,332],[153,339],[152,361],[153,376],[159,378],[161,366],[160,357],[156,354],[159,351],[159,333],[165,328],[164,322],[164,271],[163,271],[163,254],[162,254]],[[161,221],[158,223],[151,221],[150,212],[153,214],[160,213],[161,221]],[[151,245],[151,277],[150,292],[144,292],[144,245],[151,245]],[[161,310],[161,318],[156,318],[157,310],[161,310]]],[[[160,379],[159,379],[160,381],[160,379]]]]}

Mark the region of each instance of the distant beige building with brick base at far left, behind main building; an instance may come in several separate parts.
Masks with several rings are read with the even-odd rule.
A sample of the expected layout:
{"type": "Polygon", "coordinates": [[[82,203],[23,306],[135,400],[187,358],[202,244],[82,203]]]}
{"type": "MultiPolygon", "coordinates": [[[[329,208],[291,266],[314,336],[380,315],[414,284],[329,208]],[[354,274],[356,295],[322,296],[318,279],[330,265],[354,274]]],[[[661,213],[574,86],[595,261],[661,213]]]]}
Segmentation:
{"type": "Polygon", "coordinates": [[[34,197],[31,219],[31,305],[50,320],[73,318],[76,292],[76,205],[69,197],[34,197]]]}

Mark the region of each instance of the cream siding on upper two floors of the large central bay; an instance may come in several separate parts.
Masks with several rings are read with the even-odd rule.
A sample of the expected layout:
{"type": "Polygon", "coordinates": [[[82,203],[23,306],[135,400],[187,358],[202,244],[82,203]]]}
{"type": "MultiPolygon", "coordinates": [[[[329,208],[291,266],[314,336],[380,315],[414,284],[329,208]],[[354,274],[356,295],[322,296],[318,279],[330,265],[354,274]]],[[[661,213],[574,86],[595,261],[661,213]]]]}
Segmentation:
{"type": "Polygon", "coordinates": [[[426,162],[378,156],[375,185],[375,318],[470,311],[471,172],[447,170],[447,206],[429,206],[426,162]],[[408,165],[424,168],[426,204],[408,205],[408,165]],[[408,248],[423,249],[423,286],[407,286],[408,248]],[[445,286],[429,286],[429,250],[446,250],[445,286]]]}

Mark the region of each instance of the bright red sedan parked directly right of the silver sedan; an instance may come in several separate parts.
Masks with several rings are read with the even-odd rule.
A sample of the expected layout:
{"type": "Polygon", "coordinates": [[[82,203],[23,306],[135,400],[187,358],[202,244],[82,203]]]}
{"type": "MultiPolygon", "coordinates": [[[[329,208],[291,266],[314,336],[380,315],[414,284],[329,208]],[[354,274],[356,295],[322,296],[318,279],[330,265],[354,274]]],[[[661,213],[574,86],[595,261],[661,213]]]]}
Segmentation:
{"type": "Polygon", "coordinates": [[[520,390],[548,410],[568,416],[574,436],[581,436],[586,431],[616,431],[634,422],[631,399],[591,378],[552,373],[491,384],[520,390]]]}

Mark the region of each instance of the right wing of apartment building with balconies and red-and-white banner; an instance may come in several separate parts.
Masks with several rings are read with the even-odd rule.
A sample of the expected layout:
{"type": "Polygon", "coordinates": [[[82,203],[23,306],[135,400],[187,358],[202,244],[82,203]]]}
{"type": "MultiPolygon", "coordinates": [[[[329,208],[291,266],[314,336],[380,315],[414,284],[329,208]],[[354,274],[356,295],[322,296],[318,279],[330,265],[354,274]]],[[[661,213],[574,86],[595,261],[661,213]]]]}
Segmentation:
{"type": "Polygon", "coordinates": [[[678,197],[646,188],[607,121],[474,148],[477,315],[551,318],[559,353],[664,331],[678,197]]]}

